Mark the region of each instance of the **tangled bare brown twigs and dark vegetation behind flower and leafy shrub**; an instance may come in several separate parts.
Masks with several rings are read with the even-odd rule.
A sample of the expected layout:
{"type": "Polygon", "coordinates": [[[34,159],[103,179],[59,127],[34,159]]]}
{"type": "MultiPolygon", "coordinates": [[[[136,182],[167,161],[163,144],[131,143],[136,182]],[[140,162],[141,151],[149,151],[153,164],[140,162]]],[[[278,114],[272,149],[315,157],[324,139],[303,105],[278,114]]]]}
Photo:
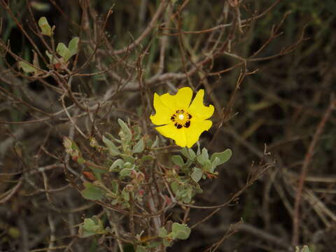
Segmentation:
{"type": "MultiPolygon", "coordinates": [[[[43,16],[55,25],[57,43],[80,37],[71,73],[59,74],[68,74],[74,97],[99,115],[98,131],[116,131],[116,118],[130,118],[155,138],[149,122],[154,92],[173,93],[186,85],[207,91],[216,115],[201,145],[211,152],[231,148],[233,156],[218,179],[204,182],[198,205],[225,202],[258,167],[268,168],[235,204],[197,225],[190,239],[169,251],[213,251],[218,241],[216,251],[291,251],[302,244],[311,251],[335,251],[336,118],[330,102],[336,2],[167,1],[151,24],[162,2],[1,0],[0,251],[48,251],[50,229],[59,251],[66,246],[69,251],[109,251],[96,239],[76,239],[76,225],[100,210],[69,186],[59,162],[65,155],[64,135],[84,141],[77,131],[71,133],[64,113],[56,114],[62,110],[62,83],[46,74],[46,59],[39,60],[44,75],[34,78],[18,70],[19,59],[13,56],[33,62],[38,48],[45,57],[34,23],[43,16]],[[204,31],[221,24],[231,26],[204,31]],[[272,27],[279,36],[269,39],[272,27]],[[297,192],[302,192],[298,215],[297,192]],[[235,226],[241,219],[244,224],[235,226]]],[[[89,135],[90,116],[79,118],[85,111],[71,99],[65,105],[89,135]]],[[[191,209],[189,225],[211,211],[191,209]]],[[[179,218],[179,211],[172,214],[179,218]]]]}

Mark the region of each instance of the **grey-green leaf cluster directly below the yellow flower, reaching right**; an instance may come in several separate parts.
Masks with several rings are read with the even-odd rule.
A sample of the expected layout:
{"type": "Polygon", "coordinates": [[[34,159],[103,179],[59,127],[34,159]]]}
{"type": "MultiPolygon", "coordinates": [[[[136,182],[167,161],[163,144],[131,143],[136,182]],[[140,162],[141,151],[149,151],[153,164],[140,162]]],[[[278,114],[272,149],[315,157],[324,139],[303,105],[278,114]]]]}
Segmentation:
{"type": "Polygon", "coordinates": [[[232,151],[227,149],[209,157],[207,149],[203,148],[200,151],[198,146],[197,153],[191,148],[182,148],[181,154],[186,158],[186,162],[181,155],[173,155],[172,162],[176,167],[167,173],[167,178],[176,200],[190,203],[196,193],[202,193],[200,180],[215,178],[218,175],[216,167],[227,162],[232,156],[232,151]]]}

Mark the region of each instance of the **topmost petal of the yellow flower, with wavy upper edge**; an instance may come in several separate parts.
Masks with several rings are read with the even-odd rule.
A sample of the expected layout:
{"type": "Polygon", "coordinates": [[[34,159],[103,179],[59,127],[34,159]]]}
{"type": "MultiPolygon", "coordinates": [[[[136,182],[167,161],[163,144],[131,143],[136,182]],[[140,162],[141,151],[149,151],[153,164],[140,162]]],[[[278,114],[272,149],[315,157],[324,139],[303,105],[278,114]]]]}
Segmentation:
{"type": "Polygon", "coordinates": [[[192,97],[193,90],[190,87],[182,87],[175,95],[162,94],[160,99],[167,107],[176,111],[176,109],[188,109],[192,97]]]}

